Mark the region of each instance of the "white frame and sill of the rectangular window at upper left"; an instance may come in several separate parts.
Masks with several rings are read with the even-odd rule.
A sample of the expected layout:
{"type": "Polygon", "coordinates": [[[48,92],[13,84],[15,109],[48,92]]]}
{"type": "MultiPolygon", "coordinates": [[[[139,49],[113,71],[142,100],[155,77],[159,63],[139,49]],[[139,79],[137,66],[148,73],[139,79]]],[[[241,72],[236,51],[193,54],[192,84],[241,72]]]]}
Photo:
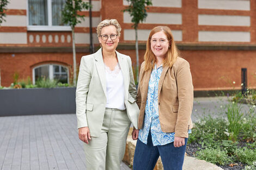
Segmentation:
{"type": "Polygon", "coordinates": [[[48,26],[29,26],[29,10],[27,1],[27,30],[28,31],[71,31],[70,26],[52,26],[52,0],[47,0],[48,26]]]}

